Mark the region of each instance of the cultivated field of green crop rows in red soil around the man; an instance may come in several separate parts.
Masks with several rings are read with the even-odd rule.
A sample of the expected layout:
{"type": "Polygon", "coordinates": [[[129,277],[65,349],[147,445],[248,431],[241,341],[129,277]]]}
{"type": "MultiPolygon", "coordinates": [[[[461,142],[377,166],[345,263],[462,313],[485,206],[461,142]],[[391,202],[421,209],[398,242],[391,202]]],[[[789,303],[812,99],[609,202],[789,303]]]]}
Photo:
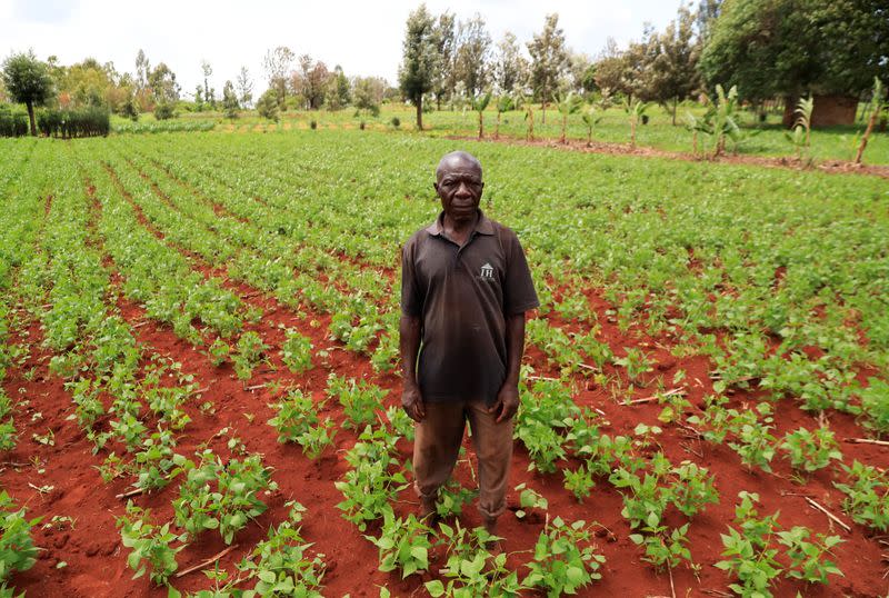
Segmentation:
{"type": "Polygon", "coordinates": [[[322,128],[0,140],[0,190],[18,591],[889,592],[883,179],[322,128]],[[470,460],[449,528],[409,517],[398,408],[399,247],[458,143],[541,300],[490,578],[470,460]]]}

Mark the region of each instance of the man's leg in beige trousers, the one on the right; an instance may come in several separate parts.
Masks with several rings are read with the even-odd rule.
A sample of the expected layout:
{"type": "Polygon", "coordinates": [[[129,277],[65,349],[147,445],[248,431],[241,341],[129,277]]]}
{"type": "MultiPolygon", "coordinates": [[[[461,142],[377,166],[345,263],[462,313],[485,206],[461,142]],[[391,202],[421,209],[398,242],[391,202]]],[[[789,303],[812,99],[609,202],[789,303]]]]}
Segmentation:
{"type": "Polygon", "coordinates": [[[479,512],[485,528],[495,534],[497,519],[507,508],[513,420],[497,423],[496,415],[481,401],[468,403],[467,413],[478,456],[479,512]]]}

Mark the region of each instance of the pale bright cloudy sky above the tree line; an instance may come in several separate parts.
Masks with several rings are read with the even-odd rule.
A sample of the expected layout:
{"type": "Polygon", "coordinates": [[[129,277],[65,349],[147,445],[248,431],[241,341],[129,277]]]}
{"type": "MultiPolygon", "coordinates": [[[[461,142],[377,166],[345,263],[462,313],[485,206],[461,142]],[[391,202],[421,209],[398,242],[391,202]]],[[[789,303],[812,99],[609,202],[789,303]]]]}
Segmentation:
{"type": "MultiPolygon", "coordinates": [[[[609,37],[619,46],[642,33],[645,23],[662,30],[683,0],[427,0],[430,12],[458,19],[481,14],[495,43],[506,31],[520,42],[558,12],[566,41],[592,57],[609,37]]],[[[687,1],[687,0],[686,0],[687,1]]],[[[202,82],[201,61],[213,69],[210,86],[221,94],[227,79],[247,67],[258,97],[268,86],[262,58],[277,46],[308,53],[347,76],[379,76],[397,82],[408,14],[419,1],[352,0],[0,0],[0,57],[33,49],[62,64],[92,57],[133,72],[144,50],[152,68],[166,62],[183,96],[202,82]]]]}

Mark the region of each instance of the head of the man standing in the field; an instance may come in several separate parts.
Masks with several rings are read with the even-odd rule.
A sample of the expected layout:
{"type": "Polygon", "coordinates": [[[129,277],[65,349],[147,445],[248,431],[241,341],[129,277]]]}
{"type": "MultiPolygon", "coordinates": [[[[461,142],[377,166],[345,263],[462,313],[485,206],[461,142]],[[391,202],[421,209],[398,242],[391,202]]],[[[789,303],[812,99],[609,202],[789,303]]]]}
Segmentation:
{"type": "Polygon", "coordinates": [[[453,221],[471,220],[485,188],[481,162],[466,151],[446,153],[436,169],[434,188],[446,216],[453,221]]]}

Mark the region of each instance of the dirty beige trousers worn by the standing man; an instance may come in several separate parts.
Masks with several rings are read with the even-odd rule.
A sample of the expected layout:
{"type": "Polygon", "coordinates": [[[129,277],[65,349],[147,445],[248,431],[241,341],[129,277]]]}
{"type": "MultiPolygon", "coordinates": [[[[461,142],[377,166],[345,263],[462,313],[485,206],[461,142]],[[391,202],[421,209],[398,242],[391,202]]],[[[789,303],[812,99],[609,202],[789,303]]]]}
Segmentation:
{"type": "Polygon", "coordinates": [[[481,401],[424,402],[426,418],[414,423],[413,488],[424,502],[434,501],[457,464],[469,421],[478,459],[479,512],[495,520],[507,508],[513,420],[496,422],[481,401]]]}

